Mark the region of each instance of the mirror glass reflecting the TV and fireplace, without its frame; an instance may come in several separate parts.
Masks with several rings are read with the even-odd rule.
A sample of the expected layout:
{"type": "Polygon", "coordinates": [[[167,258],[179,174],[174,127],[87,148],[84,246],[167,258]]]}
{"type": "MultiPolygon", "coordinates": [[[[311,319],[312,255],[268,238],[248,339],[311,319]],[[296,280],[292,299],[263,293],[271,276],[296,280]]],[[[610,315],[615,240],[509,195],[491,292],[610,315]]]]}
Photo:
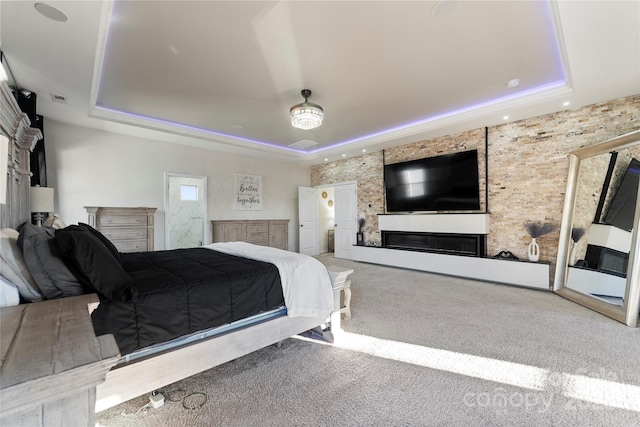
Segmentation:
{"type": "Polygon", "coordinates": [[[566,286],[622,307],[640,173],[640,146],[583,159],[566,286]]]}

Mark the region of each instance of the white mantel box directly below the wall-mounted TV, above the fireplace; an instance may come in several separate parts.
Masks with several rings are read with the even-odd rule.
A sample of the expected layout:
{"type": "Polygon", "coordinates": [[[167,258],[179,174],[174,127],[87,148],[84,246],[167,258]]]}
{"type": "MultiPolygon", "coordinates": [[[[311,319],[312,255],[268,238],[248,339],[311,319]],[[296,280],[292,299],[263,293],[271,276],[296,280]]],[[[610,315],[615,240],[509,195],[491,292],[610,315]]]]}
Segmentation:
{"type": "Polygon", "coordinates": [[[378,215],[379,231],[489,234],[489,214],[378,215]]]}

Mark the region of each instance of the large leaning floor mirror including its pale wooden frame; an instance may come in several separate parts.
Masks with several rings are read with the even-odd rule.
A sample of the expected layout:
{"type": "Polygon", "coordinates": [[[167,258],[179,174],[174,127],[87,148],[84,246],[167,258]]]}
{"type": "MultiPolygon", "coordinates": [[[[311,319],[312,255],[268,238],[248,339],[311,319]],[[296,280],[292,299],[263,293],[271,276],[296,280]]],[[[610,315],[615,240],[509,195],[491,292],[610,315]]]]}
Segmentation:
{"type": "Polygon", "coordinates": [[[638,326],[640,130],[569,154],[553,290],[638,326]]]}

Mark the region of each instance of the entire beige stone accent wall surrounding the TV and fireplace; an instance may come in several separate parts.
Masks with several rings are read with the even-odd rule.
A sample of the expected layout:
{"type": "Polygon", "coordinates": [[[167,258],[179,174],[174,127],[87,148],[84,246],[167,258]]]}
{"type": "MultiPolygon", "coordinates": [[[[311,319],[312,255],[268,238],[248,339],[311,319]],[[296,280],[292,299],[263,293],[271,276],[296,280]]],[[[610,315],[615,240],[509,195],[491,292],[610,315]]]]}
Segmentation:
{"type": "MultiPolygon", "coordinates": [[[[488,162],[484,165],[485,129],[419,141],[384,152],[386,163],[397,163],[477,148],[480,189],[488,168],[490,213],[488,255],[509,250],[527,258],[531,238],[527,222],[547,222],[556,229],[538,239],[540,261],[552,264],[553,277],[564,194],[567,154],[640,128],[640,95],[565,110],[490,127],[488,162]]],[[[384,213],[382,153],[324,163],[311,168],[311,185],[358,182],[358,211],[366,214],[365,242],[379,243],[376,214],[384,213]]]]}

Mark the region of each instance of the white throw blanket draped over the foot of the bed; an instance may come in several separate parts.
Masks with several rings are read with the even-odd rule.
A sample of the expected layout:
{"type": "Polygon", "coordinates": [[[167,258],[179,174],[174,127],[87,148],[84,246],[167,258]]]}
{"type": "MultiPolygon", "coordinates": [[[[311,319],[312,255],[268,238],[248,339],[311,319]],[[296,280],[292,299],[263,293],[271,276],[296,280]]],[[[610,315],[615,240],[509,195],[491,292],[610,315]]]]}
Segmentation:
{"type": "Polygon", "coordinates": [[[315,258],[245,242],[211,243],[205,248],[274,264],[280,272],[284,303],[290,317],[329,317],[333,309],[331,278],[315,258]]]}

